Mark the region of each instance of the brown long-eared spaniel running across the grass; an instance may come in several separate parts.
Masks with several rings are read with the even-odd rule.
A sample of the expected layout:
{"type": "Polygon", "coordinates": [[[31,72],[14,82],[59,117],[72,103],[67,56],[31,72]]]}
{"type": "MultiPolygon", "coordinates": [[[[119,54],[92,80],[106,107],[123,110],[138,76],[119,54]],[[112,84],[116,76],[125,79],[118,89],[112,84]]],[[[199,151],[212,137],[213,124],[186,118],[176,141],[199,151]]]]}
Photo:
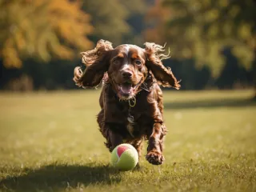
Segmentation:
{"type": "Polygon", "coordinates": [[[86,70],[74,69],[74,82],[82,87],[98,86],[103,80],[98,126],[106,147],[112,151],[122,142],[130,143],[141,154],[143,139],[148,140],[146,159],[159,165],[166,126],[160,86],[179,89],[170,69],[162,65],[167,58],[163,46],[146,42],[145,49],[134,45],[113,48],[100,40],[94,50],[82,53],[86,70]]]}

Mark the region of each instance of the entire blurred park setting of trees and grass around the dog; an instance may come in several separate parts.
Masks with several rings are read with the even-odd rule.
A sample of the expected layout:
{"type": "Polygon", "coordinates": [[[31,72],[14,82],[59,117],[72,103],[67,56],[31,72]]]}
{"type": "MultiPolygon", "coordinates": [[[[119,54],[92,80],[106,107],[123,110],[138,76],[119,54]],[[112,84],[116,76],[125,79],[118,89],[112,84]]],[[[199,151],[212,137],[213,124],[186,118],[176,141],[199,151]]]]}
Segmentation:
{"type": "Polygon", "coordinates": [[[0,0],[0,191],[256,191],[256,2],[0,0]],[[162,166],[120,172],[81,51],[166,43],[162,166]]]}

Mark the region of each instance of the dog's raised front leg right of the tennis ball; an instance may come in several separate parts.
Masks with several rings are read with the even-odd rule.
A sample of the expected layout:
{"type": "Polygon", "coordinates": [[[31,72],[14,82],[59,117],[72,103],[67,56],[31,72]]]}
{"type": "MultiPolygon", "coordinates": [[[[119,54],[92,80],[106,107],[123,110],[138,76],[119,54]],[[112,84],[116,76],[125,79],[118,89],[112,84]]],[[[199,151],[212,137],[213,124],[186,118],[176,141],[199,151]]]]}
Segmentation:
{"type": "Polygon", "coordinates": [[[162,155],[163,138],[166,134],[166,126],[160,122],[155,122],[152,134],[149,135],[149,145],[147,147],[146,160],[153,165],[161,165],[164,161],[162,155]]]}

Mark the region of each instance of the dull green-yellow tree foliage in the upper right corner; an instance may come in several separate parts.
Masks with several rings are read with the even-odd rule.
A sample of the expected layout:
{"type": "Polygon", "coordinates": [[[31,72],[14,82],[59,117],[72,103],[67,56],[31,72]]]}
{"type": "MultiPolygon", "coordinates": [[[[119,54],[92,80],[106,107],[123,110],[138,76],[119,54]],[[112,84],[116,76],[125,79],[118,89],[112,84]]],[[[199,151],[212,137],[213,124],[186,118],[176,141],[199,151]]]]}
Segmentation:
{"type": "Polygon", "coordinates": [[[231,47],[249,69],[256,50],[256,4],[253,0],[163,0],[150,11],[158,18],[148,38],[167,42],[178,58],[195,58],[214,77],[224,64],[222,49],[231,47]],[[158,35],[155,35],[158,34],[158,35]]]}

